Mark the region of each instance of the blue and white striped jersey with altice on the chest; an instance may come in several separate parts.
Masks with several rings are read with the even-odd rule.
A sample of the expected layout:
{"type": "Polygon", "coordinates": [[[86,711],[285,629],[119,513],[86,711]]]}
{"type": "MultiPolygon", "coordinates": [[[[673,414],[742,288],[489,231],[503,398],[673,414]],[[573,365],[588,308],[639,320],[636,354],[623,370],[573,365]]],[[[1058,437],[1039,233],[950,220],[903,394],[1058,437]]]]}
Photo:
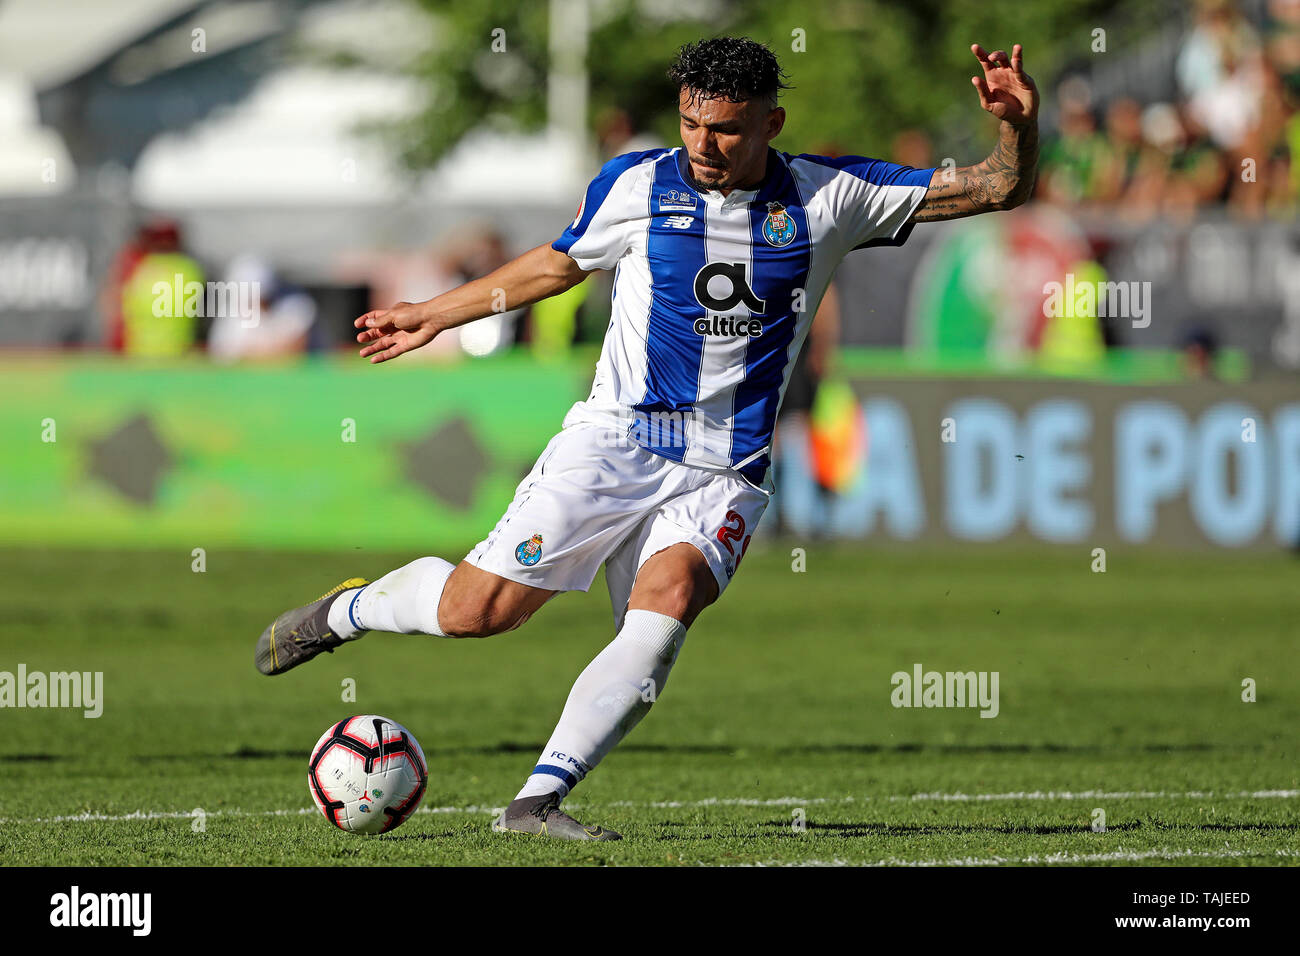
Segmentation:
{"type": "Polygon", "coordinates": [[[590,398],[566,424],[627,429],[762,484],[776,411],[840,260],[901,245],[932,169],[768,150],[757,190],[697,191],[685,150],[604,164],[552,248],[616,269],[590,398]]]}

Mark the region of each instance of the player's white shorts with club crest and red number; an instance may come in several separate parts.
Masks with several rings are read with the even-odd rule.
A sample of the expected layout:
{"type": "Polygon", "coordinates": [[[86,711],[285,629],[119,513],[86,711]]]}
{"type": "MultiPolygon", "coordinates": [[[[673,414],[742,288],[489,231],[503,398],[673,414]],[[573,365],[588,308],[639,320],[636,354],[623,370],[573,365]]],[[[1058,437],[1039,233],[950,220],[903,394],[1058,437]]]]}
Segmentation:
{"type": "Polygon", "coordinates": [[[771,485],[679,464],[603,425],[571,424],[465,561],[547,591],[586,591],[603,563],[618,628],[641,564],[681,541],[705,555],[720,594],[770,497],[771,485]]]}

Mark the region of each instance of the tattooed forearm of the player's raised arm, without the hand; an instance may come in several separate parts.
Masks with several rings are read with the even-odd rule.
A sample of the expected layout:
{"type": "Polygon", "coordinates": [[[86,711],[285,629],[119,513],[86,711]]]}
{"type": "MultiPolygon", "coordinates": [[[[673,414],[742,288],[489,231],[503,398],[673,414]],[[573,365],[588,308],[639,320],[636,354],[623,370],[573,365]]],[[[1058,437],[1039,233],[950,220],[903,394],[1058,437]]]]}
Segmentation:
{"type": "Polygon", "coordinates": [[[913,221],[935,222],[980,212],[1014,209],[1034,191],[1037,165],[1037,124],[1002,122],[997,146],[983,163],[935,172],[913,221]]]}

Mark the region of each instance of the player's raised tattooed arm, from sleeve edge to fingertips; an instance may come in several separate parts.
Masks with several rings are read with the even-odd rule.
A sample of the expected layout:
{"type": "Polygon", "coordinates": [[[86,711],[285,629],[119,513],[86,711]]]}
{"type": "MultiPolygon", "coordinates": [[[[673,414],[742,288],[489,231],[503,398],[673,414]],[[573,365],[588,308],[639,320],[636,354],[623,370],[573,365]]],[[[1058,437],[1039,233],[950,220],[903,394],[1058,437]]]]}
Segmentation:
{"type": "Polygon", "coordinates": [[[971,52],[984,70],[971,77],[979,103],[1001,120],[997,146],[983,163],[959,169],[936,169],[914,222],[976,216],[1014,209],[1030,198],[1039,165],[1039,90],[1024,72],[1020,44],[1009,57],[1001,49],[985,53],[976,43],[971,52]]]}

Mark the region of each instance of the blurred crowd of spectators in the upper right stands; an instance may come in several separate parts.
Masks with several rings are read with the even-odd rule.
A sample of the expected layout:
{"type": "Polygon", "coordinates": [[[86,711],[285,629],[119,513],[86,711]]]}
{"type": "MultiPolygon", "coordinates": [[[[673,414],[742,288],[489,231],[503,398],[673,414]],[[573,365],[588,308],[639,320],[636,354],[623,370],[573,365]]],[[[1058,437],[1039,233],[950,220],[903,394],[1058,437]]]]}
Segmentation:
{"type": "Polygon", "coordinates": [[[1174,68],[1174,101],[1096,103],[1057,91],[1060,129],[1037,196],[1127,219],[1294,217],[1300,199],[1300,0],[1269,0],[1257,29],[1232,0],[1200,0],[1174,68]]]}

